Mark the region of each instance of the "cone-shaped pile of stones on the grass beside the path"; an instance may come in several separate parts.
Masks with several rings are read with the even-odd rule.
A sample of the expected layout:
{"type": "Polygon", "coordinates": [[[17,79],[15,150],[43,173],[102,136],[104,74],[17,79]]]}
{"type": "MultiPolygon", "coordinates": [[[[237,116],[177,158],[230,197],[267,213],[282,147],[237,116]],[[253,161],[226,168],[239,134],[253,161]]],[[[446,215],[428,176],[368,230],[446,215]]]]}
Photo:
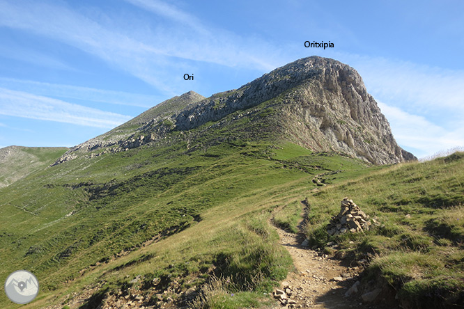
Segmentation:
{"type": "MultiPolygon", "coordinates": [[[[369,230],[369,227],[372,225],[371,219],[369,219],[369,216],[366,215],[358,205],[353,203],[353,200],[343,198],[340,208],[339,214],[333,216],[329,225],[327,225],[327,233],[329,233],[329,235],[369,230]]],[[[372,222],[378,225],[376,219],[372,219],[372,222]]]]}

